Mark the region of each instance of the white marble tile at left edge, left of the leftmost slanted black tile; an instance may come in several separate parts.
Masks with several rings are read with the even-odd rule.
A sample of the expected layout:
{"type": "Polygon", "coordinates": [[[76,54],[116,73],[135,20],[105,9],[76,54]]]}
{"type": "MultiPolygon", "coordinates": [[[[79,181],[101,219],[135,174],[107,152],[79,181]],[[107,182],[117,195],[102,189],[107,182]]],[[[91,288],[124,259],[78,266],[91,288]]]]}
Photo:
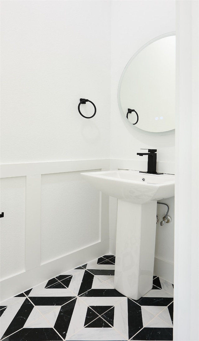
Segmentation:
{"type": "MultiPolygon", "coordinates": [[[[16,313],[21,308],[22,304],[24,303],[24,301],[26,299],[26,297],[13,297],[13,298],[17,298],[18,300],[15,303],[13,303],[14,300],[12,300],[12,299],[7,300],[7,301],[12,302],[12,304],[9,305],[9,307],[7,307],[5,309],[5,311],[3,312],[3,314],[1,315],[0,338],[4,335],[4,332],[9,327],[9,325],[11,324],[16,313]]],[[[6,301],[4,301],[4,302],[6,302],[6,301]]]]}

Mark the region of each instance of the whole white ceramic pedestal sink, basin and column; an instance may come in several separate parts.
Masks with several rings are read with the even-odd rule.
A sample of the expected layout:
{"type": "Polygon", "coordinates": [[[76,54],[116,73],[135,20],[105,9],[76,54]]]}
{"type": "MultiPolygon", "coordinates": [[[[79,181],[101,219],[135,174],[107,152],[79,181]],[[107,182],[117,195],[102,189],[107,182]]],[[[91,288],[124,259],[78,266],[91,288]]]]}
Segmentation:
{"type": "Polygon", "coordinates": [[[174,175],[136,170],[81,175],[99,191],[118,198],[114,287],[137,300],[153,286],[157,201],[174,196],[174,175]]]}

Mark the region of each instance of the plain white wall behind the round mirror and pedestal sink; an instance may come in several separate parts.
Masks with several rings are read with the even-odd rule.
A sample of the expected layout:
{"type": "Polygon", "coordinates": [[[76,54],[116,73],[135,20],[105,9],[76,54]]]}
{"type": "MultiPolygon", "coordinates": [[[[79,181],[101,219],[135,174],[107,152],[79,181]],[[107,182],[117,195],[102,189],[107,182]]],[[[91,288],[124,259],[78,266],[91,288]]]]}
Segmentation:
{"type": "MultiPolygon", "coordinates": [[[[110,158],[114,159],[111,162],[112,167],[147,170],[147,158],[146,160],[140,158],[137,152],[140,148],[154,148],[157,149],[157,171],[174,174],[175,134],[151,136],[133,130],[121,117],[117,91],[122,72],[136,51],[155,37],[175,31],[175,1],[112,1],[111,14],[110,158]]],[[[170,206],[172,222],[163,227],[157,224],[155,271],[157,275],[173,281],[174,198],[162,202],[170,206]]],[[[110,207],[115,210],[113,205],[111,202],[110,207]]],[[[162,211],[163,207],[157,207],[158,214],[162,214],[162,211]]],[[[114,226],[112,224],[110,230],[112,250],[115,243],[115,227],[116,224],[114,226]]]]}

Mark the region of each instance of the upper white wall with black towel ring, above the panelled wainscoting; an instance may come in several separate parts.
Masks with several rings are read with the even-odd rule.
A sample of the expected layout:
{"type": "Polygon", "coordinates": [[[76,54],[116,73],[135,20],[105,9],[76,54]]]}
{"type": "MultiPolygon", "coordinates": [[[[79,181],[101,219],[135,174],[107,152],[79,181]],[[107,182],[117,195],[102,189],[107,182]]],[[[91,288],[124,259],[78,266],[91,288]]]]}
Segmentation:
{"type": "Polygon", "coordinates": [[[2,1],[1,16],[1,163],[109,158],[109,1],[2,1]]]}

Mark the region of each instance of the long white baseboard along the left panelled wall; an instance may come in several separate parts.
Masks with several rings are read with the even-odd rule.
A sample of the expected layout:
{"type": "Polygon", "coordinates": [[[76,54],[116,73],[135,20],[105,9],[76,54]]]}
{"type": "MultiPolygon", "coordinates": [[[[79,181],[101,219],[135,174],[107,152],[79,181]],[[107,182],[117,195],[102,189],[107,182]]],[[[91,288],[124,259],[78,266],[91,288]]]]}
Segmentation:
{"type": "Polygon", "coordinates": [[[61,258],[3,279],[1,284],[1,302],[16,296],[33,286],[43,283],[61,273],[92,261],[109,253],[109,239],[94,243],[86,248],[72,252],[61,258]]]}

